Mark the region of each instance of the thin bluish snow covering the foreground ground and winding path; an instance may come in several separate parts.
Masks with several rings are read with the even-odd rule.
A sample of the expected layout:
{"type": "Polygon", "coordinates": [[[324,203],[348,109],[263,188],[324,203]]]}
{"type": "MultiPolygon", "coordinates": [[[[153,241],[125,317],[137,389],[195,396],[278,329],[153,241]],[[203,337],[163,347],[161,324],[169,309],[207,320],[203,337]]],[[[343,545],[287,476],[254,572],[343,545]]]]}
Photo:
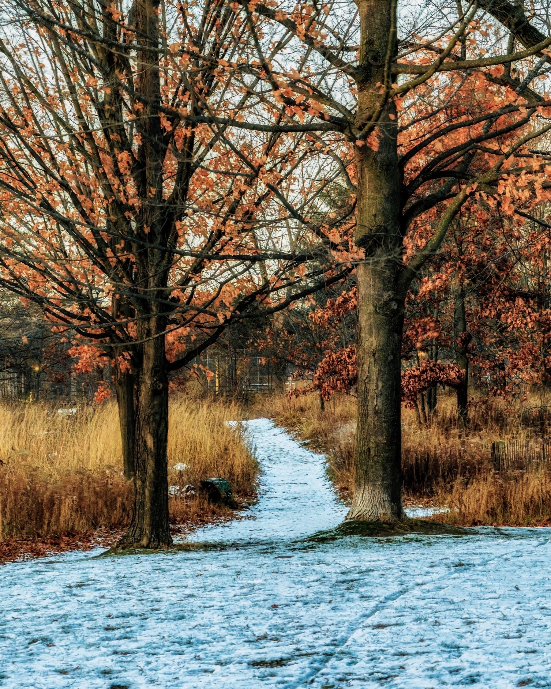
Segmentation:
{"type": "Polygon", "coordinates": [[[260,501],[208,549],[0,568],[0,686],[551,686],[551,531],[309,541],[344,515],[323,458],[249,432],[260,501]]]}

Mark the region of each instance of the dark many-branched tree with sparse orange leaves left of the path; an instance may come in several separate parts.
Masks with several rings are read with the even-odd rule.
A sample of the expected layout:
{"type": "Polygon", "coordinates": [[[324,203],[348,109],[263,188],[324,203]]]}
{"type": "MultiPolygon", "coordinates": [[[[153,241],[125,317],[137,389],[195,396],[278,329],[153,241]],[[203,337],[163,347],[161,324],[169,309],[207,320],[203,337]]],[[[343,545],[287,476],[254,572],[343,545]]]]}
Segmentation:
{"type": "Polygon", "coordinates": [[[14,0],[10,12],[0,285],[74,331],[76,351],[96,342],[114,361],[135,486],[123,544],[167,545],[168,374],[236,320],[349,273],[329,227],[289,215],[342,170],[300,124],[247,130],[264,117],[255,38],[225,0],[14,0]]]}

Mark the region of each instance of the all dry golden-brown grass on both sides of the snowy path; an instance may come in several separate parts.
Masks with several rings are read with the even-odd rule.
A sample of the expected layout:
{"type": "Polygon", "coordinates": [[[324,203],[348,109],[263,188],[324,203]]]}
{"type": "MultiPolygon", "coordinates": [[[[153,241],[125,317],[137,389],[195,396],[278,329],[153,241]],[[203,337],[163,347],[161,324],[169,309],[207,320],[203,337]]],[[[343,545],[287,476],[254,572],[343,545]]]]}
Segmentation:
{"type": "MultiPolygon", "coordinates": [[[[541,397],[541,392],[536,393],[541,397]]],[[[551,477],[498,475],[488,464],[495,440],[523,440],[530,406],[492,406],[483,399],[471,411],[472,431],[457,428],[454,395],[439,395],[438,413],[419,427],[404,410],[404,496],[447,505],[456,524],[541,524],[551,517],[551,477]],[[514,412],[514,413],[513,413],[514,412]],[[524,424],[521,424],[521,412],[524,424]]],[[[312,449],[328,455],[329,473],[348,499],[353,493],[355,400],[335,395],[322,411],[318,395],[258,397],[246,409],[223,400],[174,395],[170,402],[169,484],[198,487],[209,477],[231,482],[238,498],[254,494],[258,466],[240,425],[228,421],[271,416],[312,449]],[[183,471],[171,468],[186,465],[183,471]]],[[[0,406],[1,534],[48,537],[124,528],[132,511],[132,484],[122,475],[121,440],[114,403],[76,414],[42,404],[0,406]]],[[[171,522],[198,523],[229,515],[197,495],[169,500],[171,522]]]]}

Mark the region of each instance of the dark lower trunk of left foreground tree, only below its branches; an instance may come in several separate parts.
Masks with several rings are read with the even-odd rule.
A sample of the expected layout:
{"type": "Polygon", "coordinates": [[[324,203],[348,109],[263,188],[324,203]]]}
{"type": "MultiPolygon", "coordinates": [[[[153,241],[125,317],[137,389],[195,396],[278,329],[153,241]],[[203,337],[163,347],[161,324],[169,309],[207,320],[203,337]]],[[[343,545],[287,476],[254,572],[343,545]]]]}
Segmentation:
{"type": "MultiPolygon", "coordinates": [[[[153,328],[155,320],[152,317],[153,328]]],[[[121,545],[160,548],[172,543],[167,491],[168,376],[163,336],[143,343],[143,360],[136,373],[135,413],[134,509],[121,545]]]]}

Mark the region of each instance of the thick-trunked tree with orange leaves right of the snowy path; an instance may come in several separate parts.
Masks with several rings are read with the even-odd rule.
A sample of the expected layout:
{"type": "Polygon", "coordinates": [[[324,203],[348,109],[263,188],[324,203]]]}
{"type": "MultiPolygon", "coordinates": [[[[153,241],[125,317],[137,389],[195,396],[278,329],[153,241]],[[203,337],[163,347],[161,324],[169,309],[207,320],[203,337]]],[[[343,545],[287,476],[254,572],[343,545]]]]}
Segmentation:
{"type": "MultiPolygon", "coordinates": [[[[526,212],[546,193],[545,156],[537,151],[551,127],[545,8],[526,17],[521,4],[503,0],[240,0],[239,12],[255,41],[258,98],[277,117],[269,130],[309,103],[312,138],[335,132],[335,155],[357,189],[358,426],[349,519],[402,520],[406,294],[465,205],[526,212]],[[286,44],[277,61],[264,57],[274,40],[286,44]]],[[[290,212],[306,222],[298,209],[290,212]]]]}

